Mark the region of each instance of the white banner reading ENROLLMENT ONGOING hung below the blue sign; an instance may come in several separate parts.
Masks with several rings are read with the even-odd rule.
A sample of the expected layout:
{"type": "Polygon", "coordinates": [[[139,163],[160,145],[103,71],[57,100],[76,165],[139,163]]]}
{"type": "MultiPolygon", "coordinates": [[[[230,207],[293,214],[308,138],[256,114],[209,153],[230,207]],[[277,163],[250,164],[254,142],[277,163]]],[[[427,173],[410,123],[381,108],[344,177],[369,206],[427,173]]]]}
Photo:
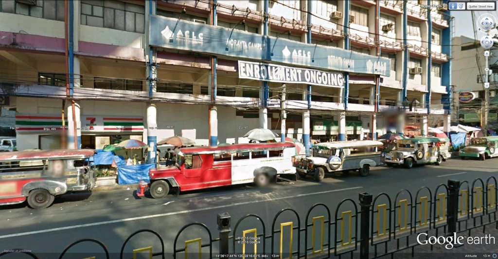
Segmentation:
{"type": "Polygon", "coordinates": [[[239,78],[268,82],[302,83],[330,87],[343,87],[342,73],[314,69],[286,67],[274,64],[239,60],[239,78]]]}

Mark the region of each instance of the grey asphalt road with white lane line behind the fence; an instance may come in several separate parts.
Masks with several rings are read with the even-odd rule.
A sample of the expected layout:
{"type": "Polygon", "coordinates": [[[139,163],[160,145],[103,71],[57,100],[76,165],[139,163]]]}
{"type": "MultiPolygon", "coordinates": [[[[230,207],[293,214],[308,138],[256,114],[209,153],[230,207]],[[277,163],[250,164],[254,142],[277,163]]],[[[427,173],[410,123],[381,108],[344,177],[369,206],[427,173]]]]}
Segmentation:
{"type": "MultiPolygon", "coordinates": [[[[25,249],[40,258],[58,258],[66,246],[88,238],[101,241],[112,253],[111,258],[119,258],[124,240],[129,235],[138,230],[150,229],[161,235],[166,257],[171,257],[175,237],[186,224],[206,224],[212,232],[212,238],[218,238],[218,213],[227,212],[232,216],[232,229],[247,214],[259,216],[260,220],[251,218],[241,223],[236,236],[241,236],[242,230],[260,226],[260,221],[264,222],[266,233],[271,234],[272,220],[283,208],[292,208],[300,215],[302,228],[307,211],[319,202],[327,205],[333,214],[342,200],[350,198],[358,201],[359,193],[371,193],[374,197],[379,193],[386,193],[394,197],[399,190],[407,189],[415,194],[422,186],[434,190],[449,179],[472,183],[476,178],[486,180],[491,176],[497,177],[497,172],[498,159],[452,159],[441,166],[373,168],[368,177],[360,177],[358,173],[327,175],[320,183],[307,178],[295,183],[279,182],[265,189],[252,185],[217,188],[168,196],[162,200],[137,198],[133,195],[133,190],[68,194],[56,199],[51,207],[44,210],[32,210],[25,204],[2,207],[0,250],[25,249]]],[[[348,209],[354,210],[354,207],[345,203],[340,211],[348,209]]],[[[324,213],[325,210],[317,209],[311,216],[324,213]]],[[[294,219],[291,212],[284,212],[277,219],[276,226],[294,219]]],[[[258,231],[261,231],[259,229],[260,227],[258,231]]],[[[187,229],[180,236],[177,248],[184,248],[184,240],[197,237],[201,237],[203,243],[207,240],[201,227],[187,229]]],[[[284,242],[288,242],[288,239],[284,242]]],[[[148,246],[153,247],[154,253],[161,248],[157,238],[141,233],[129,241],[124,251],[129,253],[132,249],[148,246]]],[[[203,251],[207,252],[208,249],[204,248],[203,251]]],[[[191,250],[197,251],[196,248],[191,250]]],[[[64,258],[95,255],[88,253],[89,251],[100,253],[102,249],[94,244],[80,244],[70,252],[81,254],[71,254],[64,258]]],[[[189,254],[189,258],[190,256],[193,255],[189,254]]],[[[5,256],[5,259],[11,258],[28,257],[12,254],[5,256]]]]}

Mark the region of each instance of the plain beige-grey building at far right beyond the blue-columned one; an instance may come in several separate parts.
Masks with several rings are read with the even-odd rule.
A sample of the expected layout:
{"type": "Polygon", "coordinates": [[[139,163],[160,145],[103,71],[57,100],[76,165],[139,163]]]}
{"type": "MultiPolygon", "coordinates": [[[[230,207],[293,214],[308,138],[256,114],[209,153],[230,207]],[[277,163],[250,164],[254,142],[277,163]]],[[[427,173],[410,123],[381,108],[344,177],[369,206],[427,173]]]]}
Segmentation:
{"type": "Polygon", "coordinates": [[[455,111],[452,120],[469,126],[484,127],[488,125],[490,128],[496,129],[498,48],[489,49],[489,70],[486,71],[486,58],[484,56],[486,49],[481,46],[479,40],[460,36],[453,39],[453,44],[456,45],[453,49],[453,65],[458,67],[458,70],[454,70],[452,74],[452,81],[455,82],[453,88],[455,111]],[[490,83],[488,109],[485,107],[485,82],[490,83]],[[467,92],[474,93],[475,98],[470,101],[464,98],[463,101],[460,101],[460,93],[467,94],[467,92]],[[483,111],[487,111],[487,113],[483,111]]]}

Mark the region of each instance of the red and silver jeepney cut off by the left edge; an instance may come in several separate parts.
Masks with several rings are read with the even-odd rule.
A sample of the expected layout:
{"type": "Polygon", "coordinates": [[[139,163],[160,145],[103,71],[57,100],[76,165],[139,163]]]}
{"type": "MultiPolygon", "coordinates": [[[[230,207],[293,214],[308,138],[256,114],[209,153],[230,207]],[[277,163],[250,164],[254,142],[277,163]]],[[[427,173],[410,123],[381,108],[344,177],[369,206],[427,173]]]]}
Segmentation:
{"type": "Polygon", "coordinates": [[[55,196],[95,186],[88,158],[94,149],[33,150],[0,153],[0,205],[27,200],[33,209],[50,206],[55,196]]]}

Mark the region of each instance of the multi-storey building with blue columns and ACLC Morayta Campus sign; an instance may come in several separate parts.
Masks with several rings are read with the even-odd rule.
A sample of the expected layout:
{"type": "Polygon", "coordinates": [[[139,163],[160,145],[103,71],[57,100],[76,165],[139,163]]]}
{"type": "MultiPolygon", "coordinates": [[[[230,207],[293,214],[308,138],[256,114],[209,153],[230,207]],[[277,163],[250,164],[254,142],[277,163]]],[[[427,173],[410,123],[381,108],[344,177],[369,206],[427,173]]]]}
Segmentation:
{"type": "Polygon", "coordinates": [[[1,0],[0,93],[19,150],[61,132],[71,148],[149,150],[254,128],[306,145],[405,121],[426,134],[449,124],[451,35],[436,0],[1,0]]]}

